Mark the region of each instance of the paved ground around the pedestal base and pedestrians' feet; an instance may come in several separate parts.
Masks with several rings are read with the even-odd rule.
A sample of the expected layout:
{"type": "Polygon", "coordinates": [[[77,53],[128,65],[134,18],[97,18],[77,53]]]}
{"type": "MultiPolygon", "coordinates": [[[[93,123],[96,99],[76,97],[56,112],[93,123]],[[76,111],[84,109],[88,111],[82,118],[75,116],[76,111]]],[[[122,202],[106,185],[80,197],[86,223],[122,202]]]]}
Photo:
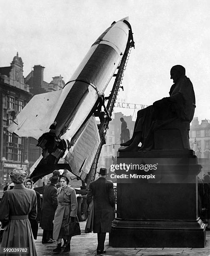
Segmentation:
{"type": "MultiPolygon", "coordinates": [[[[96,255],[97,234],[84,233],[85,222],[80,222],[81,236],[74,236],[71,241],[71,251],[68,253],[54,253],[53,248],[56,243],[42,244],[42,229],[39,229],[37,240],[35,241],[37,253],[41,255],[70,255],[89,256],[96,255]]],[[[138,256],[210,256],[210,231],[206,233],[207,243],[205,248],[112,248],[108,245],[108,234],[105,241],[106,256],[112,255],[135,255],[138,256]]]]}

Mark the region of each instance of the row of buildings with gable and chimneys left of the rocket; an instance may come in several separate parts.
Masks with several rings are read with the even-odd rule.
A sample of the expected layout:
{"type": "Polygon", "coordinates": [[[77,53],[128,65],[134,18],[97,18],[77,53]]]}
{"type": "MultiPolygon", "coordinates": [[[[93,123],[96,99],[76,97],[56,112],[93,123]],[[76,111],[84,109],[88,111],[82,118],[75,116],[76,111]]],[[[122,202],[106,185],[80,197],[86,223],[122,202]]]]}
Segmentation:
{"type": "MultiPolygon", "coordinates": [[[[35,94],[61,90],[65,85],[61,75],[50,83],[44,81],[44,67],[35,65],[26,78],[23,61],[14,56],[9,67],[0,67],[0,189],[9,181],[15,167],[29,171],[41,154],[37,140],[20,138],[9,133],[7,127],[35,94]]],[[[42,181],[38,185],[41,185],[42,181]]]]}

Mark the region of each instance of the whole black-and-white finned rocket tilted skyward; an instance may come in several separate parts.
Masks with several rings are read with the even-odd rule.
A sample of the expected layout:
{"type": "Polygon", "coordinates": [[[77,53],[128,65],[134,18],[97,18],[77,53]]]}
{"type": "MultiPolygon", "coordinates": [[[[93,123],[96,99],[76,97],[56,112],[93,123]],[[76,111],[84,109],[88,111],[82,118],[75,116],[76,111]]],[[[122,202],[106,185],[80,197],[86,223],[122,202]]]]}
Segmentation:
{"type": "Polygon", "coordinates": [[[32,97],[8,127],[20,137],[37,139],[42,148],[30,168],[34,182],[59,169],[61,158],[81,179],[90,171],[100,143],[92,114],[125,52],[130,24],[124,20],[128,18],[112,23],[97,38],[62,90],[32,97]]]}

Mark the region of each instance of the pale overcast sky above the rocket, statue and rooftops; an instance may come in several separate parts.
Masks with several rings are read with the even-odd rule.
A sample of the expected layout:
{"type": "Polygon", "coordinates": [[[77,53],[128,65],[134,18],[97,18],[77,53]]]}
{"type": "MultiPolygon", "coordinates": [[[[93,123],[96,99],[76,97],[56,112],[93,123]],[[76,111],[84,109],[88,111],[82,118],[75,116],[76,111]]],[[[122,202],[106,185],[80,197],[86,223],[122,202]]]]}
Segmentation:
{"type": "Polygon", "coordinates": [[[193,82],[194,116],[210,119],[209,0],[0,0],[0,67],[18,51],[25,77],[40,64],[46,82],[60,74],[67,82],[97,37],[127,16],[135,49],[119,98],[150,105],[168,97],[170,68],[181,64],[193,82]]]}

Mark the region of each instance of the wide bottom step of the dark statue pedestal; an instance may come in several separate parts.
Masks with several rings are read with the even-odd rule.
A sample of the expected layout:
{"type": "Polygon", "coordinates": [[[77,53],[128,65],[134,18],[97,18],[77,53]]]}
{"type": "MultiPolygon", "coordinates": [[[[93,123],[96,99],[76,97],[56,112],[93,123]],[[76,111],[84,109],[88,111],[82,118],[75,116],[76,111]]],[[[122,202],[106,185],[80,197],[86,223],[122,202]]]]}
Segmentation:
{"type": "Polygon", "coordinates": [[[112,247],[203,248],[205,224],[200,220],[123,220],[116,218],[109,236],[112,247]]]}

